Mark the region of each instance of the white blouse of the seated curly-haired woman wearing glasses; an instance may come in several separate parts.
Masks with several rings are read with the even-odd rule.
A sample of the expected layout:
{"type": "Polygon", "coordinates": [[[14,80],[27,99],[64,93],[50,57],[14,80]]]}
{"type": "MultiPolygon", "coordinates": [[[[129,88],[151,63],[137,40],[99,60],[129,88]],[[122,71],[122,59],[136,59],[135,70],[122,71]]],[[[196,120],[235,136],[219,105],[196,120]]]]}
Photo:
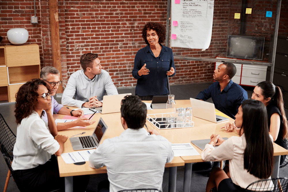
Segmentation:
{"type": "Polygon", "coordinates": [[[43,165],[59,148],[59,143],[50,133],[48,123],[33,111],[29,117],[22,119],[17,127],[12,168],[24,170],[43,165]]]}

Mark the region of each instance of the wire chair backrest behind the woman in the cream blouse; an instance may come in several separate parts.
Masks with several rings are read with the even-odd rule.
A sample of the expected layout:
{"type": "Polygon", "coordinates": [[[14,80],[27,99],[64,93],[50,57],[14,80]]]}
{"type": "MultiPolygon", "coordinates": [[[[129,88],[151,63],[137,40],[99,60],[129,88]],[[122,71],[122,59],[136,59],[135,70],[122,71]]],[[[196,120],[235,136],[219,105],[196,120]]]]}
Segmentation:
{"type": "Polygon", "coordinates": [[[286,192],[287,189],[288,189],[287,178],[273,178],[273,179],[262,179],[259,181],[255,181],[250,185],[248,185],[245,191],[286,192]],[[271,183],[273,183],[274,186],[271,185],[271,183]]]}

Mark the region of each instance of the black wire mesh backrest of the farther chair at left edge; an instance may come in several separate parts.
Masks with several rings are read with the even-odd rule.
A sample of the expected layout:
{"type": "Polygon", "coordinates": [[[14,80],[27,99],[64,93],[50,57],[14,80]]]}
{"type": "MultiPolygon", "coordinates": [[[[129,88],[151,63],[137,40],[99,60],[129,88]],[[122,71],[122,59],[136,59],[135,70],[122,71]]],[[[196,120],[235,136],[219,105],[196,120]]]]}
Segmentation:
{"type": "Polygon", "coordinates": [[[6,151],[10,153],[16,142],[16,135],[11,131],[5,119],[0,113],[0,143],[4,145],[6,151]]]}

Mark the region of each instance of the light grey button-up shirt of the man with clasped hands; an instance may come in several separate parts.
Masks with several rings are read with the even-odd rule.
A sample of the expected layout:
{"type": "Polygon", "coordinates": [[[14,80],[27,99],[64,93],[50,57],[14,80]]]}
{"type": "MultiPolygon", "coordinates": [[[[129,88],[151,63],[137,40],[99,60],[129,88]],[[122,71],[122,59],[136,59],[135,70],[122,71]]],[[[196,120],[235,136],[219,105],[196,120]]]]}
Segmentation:
{"type": "Polygon", "coordinates": [[[82,104],[88,102],[92,96],[97,96],[97,99],[102,102],[106,92],[107,95],[118,95],[118,91],[107,71],[102,69],[101,74],[95,75],[91,80],[84,74],[82,69],[70,76],[61,102],[62,105],[81,108],[82,104]]]}

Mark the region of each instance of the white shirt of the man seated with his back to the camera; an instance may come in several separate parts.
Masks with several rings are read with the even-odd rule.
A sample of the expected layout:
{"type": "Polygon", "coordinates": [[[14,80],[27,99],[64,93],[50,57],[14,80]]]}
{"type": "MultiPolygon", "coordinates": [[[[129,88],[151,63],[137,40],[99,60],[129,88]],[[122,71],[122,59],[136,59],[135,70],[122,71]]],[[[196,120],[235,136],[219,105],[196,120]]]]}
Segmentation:
{"type": "Polygon", "coordinates": [[[119,137],[106,139],[90,155],[92,168],[107,166],[110,192],[123,189],[156,188],[162,190],[165,164],[174,153],[171,143],[147,130],[126,129],[119,137]]]}

